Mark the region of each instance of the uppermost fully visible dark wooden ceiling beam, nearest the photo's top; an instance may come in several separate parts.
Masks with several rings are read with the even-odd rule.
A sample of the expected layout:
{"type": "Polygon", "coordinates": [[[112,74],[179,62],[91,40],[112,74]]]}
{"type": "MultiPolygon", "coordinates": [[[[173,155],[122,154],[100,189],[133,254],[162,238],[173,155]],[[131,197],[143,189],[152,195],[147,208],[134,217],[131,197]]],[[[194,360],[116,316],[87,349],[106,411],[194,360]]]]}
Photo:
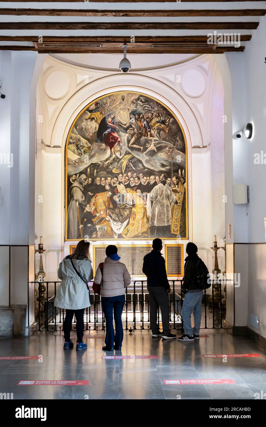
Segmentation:
{"type": "Polygon", "coordinates": [[[193,10],[100,10],[100,9],[0,9],[0,15],[82,16],[82,17],[189,17],[189,16],[264,16],[266,9],[193,9],[193,10]]]}

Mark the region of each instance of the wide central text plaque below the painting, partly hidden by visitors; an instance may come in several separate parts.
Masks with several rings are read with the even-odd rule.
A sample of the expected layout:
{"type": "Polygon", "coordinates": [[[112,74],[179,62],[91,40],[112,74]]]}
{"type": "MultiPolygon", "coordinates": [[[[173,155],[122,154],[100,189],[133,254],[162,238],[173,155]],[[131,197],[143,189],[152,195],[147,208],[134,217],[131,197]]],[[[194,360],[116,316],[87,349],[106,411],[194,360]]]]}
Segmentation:
{"type": "MultiPolygon", "coordinates": [[[[116,245],[118,249],[118,255],[120,256],[120,262],[125,264],[129,274],[132,277],[144,276],[142,272],[143,257],[148,252],[151,252],[152,245],[116,245]]],[[[106,245],[97,245],[93,248],[93,269],[94,273],[99,263],[105,260],[105,248],[106,245]]],[[[146,277],[146,276],[145,276],[146,277]]]]}

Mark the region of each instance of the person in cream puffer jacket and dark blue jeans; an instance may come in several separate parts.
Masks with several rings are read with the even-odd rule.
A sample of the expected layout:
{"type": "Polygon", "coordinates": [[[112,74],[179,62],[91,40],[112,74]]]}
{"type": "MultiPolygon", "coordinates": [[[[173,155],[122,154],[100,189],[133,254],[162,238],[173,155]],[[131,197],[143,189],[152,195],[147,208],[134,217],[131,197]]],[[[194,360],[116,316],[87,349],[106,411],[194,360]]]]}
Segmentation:
{"type": "Polygon", "coordinates": [[[120,257],[117,254],[116,246],[107,246],[105,254],[104,263],[100,263],[97,268],[94,286],[100,285],[99,292],[106,322],[105,346],[102,347],[102,350],[114,351],[121,350],[122,347],[122,313],[125,304],[125,288],[130,285],[131,277],[125,264],[119,261],[120,257]]]}

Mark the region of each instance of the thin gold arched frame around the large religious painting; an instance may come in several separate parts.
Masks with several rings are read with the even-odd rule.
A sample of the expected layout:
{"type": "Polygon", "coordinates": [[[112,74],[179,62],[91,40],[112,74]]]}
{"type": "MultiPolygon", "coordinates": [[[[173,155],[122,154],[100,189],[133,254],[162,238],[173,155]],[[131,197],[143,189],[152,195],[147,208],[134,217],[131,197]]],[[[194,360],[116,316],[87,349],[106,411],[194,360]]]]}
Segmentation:
{"type": "MultiPolygon", "coordinates": [[[[123,91],[115,91],[115,92],[110,92],[110,93],[106,93],[104,95],[101,95],[100,97],[97,97],[96,99],[93,99],[91,102],[89,102],[89,104],[85,105],[84,108],[82,108],[82,110],[79,112],[79,114],[75,117],[75,119],[72,122],[72,125],[70,126],[70,129],[68,131],[67,134],[67,140],[65,143],[65,162],[64,162],[64,166],[65,166],[65,180],[64,180],[64,185],[65,185],[65,201],[64,201],[64,211],[65,211],[65,215],[64,215],[64,241],[65,242],[78,242],[79,240],[82,239],[67,239],[67,146],[68,146],[68,140],[70,137],[70,134],[72,132],[73,126],[75,125],[76,121],[79,119],[79,117],[81,116],[81,114],[87,110],[92,104],[94,104],[95,102],[97,102],[99,99],[102,99],[104,97],[110,96],[110,95],[116,95],[116,94],[120,94],[121,92],[128,92],[131,94],[138,94],[138,95],[143,95],[143,96],[147,96],[151,99],[154,99],[156,102],[158,102],[159,104],[161,104],[164,108],[167,109],[167,111],[170,112],[170,114],[172,114],[172,116],[175,118],[175,120],[177,121],[178,125],[180,126],[182,135],[184,137],[184,143],[185,143],[185,154],[186,154],[186,236],[185,237],[181,237],[181,240],[188,240],[188,182],[187,182],[187,178],[188,178],[188,170],[187,170],[187,138],[186,135],[184,133],[184,129],[183,126],[181,125],[180,121],[178,120],[178,118],[176,117],[176,115],[173,113],[172,110],[170,110],[170,108],[167,107],[167,105],[164,104],[164,102],[160,101],[159,99],[152,97],[151,95],[148,94],[143,94],[141,92],[138,91],[127,91],[126,89],[124,89],[123,91]]],[[[176,240],[176,237],[162,237],[162,240],[176,240]]],[[[120,241],[130,241],[130,239],[110,239],[110,238],[101,238],[99,240],[120,240],[120,241]]],[[[143,237],[134,237],[134,240],[145,240],[143,239],[143,237]]]]}

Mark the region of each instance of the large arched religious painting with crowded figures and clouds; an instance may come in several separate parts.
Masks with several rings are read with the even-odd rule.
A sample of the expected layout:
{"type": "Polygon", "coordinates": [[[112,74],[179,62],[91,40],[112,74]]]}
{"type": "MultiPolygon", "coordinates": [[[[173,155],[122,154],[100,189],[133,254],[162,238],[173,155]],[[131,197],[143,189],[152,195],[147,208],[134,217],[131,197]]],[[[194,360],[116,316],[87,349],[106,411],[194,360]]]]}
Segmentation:
{"type": "Polygon", "coordinates": [[[162,102],[95,99],[67,135],[65,238],[187,239],[187,144],[162,102]]]}

